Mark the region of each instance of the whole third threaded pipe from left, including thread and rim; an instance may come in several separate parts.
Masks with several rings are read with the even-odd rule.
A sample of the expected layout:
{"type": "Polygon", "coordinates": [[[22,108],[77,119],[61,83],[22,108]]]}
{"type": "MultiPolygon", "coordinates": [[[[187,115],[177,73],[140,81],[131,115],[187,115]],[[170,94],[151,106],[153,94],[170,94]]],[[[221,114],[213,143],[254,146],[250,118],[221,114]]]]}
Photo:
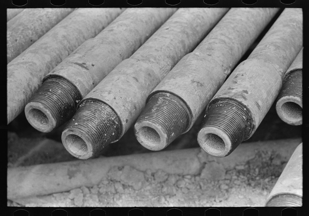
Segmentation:
{"type": "Polygon", "coordinates": [[[134,126],[139,143],[150,150],[161,150],[190,130],[231,69],[278,10],[230,9],[148,96],[134,126]],[[152,136],[153,133],[158,136],[152,136]]]}

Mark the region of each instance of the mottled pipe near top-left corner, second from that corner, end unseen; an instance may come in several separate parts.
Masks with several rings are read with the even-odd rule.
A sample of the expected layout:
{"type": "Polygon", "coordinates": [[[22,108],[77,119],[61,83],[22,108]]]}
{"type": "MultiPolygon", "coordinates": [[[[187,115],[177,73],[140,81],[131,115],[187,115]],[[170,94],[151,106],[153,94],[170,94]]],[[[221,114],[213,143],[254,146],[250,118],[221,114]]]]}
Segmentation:
{"type": "Polygon", "coordinates": [[[7,63],[59,23],[72,8],[26,8],[6,23],[7,63]]]}

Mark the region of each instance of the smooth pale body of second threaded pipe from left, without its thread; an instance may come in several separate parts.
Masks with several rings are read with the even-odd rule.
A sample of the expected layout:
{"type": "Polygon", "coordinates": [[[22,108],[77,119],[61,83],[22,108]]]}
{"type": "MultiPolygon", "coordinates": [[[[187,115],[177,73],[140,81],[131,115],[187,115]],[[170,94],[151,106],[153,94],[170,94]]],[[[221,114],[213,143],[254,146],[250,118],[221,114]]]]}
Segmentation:
{"type": "MultiPolygon", "coordinates": [[[[135,122],[155,86],[185,54],[197,46],[227,10],[178,9],[145,44],[118,64],[83,98],[82,101],[98,100],[107,104],[118,116],[121,131],[112,142],[120,139],[135,122]]],[[[77,110],[75,115],[83,114],[77,110]]],[[[74,130],[74,127],[70,127],[70,130],[74,130]]],[[[62,135],[64,145],[65,140],[66,137],[62,135]]]]}

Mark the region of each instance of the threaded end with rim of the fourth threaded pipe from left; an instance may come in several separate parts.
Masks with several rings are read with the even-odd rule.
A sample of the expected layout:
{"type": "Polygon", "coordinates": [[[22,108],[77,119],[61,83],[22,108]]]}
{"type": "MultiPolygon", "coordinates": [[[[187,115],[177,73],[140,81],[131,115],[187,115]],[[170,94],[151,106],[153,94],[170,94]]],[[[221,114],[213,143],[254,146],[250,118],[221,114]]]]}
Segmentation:
{"type": "Polygon", "coordinates": [[[225,157],[253,130],[250,111],[238,101],[217,98],[210,102],[197,141],[210,155],[225,157]]]}

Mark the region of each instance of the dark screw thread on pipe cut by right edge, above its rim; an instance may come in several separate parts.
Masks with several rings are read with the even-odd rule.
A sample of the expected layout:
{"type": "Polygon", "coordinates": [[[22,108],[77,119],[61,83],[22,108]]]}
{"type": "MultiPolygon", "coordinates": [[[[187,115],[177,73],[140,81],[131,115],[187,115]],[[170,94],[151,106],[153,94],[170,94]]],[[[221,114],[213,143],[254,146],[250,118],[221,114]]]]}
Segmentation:
{"type": "Polygon", "coordinates": [[[301,70],[291,72],[284,79],[278,100],[285,96],[303,98],[303,74],[301,70]]]}

